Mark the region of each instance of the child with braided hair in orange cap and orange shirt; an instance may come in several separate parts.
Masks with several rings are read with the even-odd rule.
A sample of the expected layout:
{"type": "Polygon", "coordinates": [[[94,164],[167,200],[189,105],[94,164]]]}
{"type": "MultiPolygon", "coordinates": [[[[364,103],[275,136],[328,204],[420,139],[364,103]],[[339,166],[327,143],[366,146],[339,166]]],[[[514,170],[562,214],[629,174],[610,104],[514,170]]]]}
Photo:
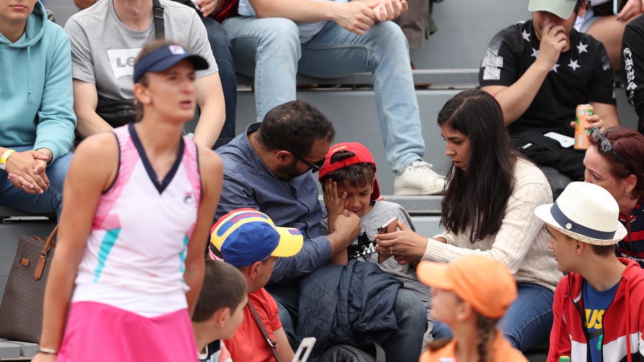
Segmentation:
{"type": "Polygon", "coordinates": [[[527,362],[496,327],[516,299],[516,281],[505,265],[471,255],[448,264],[422,261],[417,271],[433,292],[431,316],[454,334],[430,343],[420,362],[527,362]]]}

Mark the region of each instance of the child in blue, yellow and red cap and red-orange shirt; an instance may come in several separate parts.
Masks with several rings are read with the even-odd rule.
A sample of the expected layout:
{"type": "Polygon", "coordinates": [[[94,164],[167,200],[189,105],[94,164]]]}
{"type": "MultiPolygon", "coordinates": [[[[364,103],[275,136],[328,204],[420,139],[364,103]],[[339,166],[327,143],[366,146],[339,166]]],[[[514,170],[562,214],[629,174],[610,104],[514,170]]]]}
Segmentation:
{"type": "Polygon", "coordinates": [[[264,286],[278,258],[294,256],[302,249],[303,235],[298,229],[275,226],[267,214],[255,209],[237,209],[214,224],[211,243],[225,262],[242,272],[249,292],[242,325],[232,339],[224,341],[232,361],[274,361],[273,353],[290,361],[294,353],[279,321],[278,306],[264,286]],[[276,348],[269,346],[258,323],[276,348]]]}

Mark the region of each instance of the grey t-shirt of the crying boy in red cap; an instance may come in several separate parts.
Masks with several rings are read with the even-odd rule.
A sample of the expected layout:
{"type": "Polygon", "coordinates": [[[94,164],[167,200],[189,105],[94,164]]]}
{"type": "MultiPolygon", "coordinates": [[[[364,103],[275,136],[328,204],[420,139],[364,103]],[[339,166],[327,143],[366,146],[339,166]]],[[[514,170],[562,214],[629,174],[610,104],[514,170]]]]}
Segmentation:
{"type": "MultiPolygon", "coordinates": [[[[374,235],[378,233],[379,227],[391,220],[394,216],[397,216],[398,220],[410,227],[410,229],[416,231],[416,228],[413,226],[412,217],[409,216],[401,205],[388,201],[376,201],[374,208],[360,218],[362,229],[360,236],[348,248],[349,258],[378,263],[378,252],[375,251],[376,243],[374,235]]],[[[328,234],[327,219],[322,220],[321,226],[325,234],[328,234]]],[[[378,265],[383,271],[403,281],[403,288],[415,292],[421,298],[422,303],[428,309],[430,308],[430,288],[418,280],[416,269],[413,269],[411,264],[400,265],[392,257],[378,265]]]]}

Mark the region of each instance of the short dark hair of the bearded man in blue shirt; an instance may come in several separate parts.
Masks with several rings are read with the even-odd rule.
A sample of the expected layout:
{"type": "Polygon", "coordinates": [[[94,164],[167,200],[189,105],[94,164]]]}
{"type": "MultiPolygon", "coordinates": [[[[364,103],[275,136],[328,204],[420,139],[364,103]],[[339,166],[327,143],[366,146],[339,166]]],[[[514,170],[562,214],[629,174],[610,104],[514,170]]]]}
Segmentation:
{"type": "Polygon", "coordinates": [[[265,149],[307,156],[316,140],[333,142],[336,130],[316,107],[303,100],[292,100],[266,113],[257,135],[265,149]]]}

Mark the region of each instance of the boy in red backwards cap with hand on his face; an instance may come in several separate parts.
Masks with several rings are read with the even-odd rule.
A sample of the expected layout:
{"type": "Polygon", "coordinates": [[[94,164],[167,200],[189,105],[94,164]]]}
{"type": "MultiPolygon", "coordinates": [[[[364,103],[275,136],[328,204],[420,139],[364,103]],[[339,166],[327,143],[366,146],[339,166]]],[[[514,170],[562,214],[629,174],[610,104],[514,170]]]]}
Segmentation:
{"type": "MultiPolygon", "coordinates": [[[[334,231],[334,222],[345,209],[360,217],[362,230],[358,238],[349,247],[331,258],[332,263],[346,265],[348,259],[365,262],[378,262],[375,251],[375,234],[379,228],[398,218],[415,230],[412,218],[399,204],[377,200],[380,197],[378,180],[375,178],[376,165],[369,150],[358,142],[344,142],[331,146],[325,164],[319,170],[319,182],[322,184],[327,220],[322,220],[323,229],[334,231]]],[[[392,255],[393,256],[393,255],[392,255]]],[[[399,265],[394,258],[388,258],[379,264],[383,271],[403,281],[403,289],[408,289],[421,298],[427,309],[430,309],[430,289],[418,281],[412,264],[399,265]]],[[[433,329],[433,322],[428,314],[428,330],[433,329]]],[[[430,334],[425,335],[430,340],[430,334]]]]}

